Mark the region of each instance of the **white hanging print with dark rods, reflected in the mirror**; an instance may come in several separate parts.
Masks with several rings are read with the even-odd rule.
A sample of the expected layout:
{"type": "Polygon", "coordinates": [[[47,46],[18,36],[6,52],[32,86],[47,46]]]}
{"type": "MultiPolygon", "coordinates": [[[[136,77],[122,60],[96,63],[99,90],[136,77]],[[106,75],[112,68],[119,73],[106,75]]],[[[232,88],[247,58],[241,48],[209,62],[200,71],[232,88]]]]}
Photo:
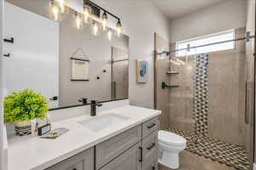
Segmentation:
{"type": "Polygon", "coordinates": [[[90,60],[71,58],[71,81],[89,81],[90,60]]]}

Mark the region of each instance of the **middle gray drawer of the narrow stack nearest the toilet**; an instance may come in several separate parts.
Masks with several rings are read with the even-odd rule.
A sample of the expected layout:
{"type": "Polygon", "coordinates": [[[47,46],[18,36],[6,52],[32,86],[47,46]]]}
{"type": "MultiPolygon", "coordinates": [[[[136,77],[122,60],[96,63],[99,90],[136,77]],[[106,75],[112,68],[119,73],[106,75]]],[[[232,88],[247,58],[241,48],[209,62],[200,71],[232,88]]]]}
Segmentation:
{"type": "Polygon", "coordinates": [[[143,160],[147,160],[148,157],[157,155],[158,151],[158,132],[149,134],[143,139],[143,160]]]}

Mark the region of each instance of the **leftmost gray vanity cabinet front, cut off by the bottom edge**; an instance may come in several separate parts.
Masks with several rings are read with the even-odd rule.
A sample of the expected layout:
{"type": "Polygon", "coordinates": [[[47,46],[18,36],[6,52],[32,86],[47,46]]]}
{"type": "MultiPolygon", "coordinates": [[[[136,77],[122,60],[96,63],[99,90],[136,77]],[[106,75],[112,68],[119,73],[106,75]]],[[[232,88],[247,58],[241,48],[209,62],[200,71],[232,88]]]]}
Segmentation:
{"type": "Polygon", "coordinates": [[[85,150],[46,170],[94,170],[94,149],[85,150]]]}

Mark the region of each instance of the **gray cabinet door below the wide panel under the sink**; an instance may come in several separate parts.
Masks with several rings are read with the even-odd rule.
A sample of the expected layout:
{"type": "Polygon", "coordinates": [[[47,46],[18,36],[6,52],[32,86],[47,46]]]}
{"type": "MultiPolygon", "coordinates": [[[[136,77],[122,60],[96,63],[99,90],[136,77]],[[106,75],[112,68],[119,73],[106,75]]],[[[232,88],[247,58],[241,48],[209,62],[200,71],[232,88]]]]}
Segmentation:
{"type": "Polygon", "coordinates": [[[134,145],[130,150],[125,151],[113,161],[110,161],[101,170],[141,170],[141,144],[134,145]]]}

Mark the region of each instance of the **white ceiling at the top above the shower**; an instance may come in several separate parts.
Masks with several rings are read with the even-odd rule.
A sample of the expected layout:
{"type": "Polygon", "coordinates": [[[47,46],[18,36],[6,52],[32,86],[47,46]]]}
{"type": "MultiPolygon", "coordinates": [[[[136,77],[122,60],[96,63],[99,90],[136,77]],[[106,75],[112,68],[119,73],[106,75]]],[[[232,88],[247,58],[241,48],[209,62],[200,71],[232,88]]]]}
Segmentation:
{"type": "Polygon", "coordinates": [[[228,0],[149,0],[172,20],[228,0]]]}

